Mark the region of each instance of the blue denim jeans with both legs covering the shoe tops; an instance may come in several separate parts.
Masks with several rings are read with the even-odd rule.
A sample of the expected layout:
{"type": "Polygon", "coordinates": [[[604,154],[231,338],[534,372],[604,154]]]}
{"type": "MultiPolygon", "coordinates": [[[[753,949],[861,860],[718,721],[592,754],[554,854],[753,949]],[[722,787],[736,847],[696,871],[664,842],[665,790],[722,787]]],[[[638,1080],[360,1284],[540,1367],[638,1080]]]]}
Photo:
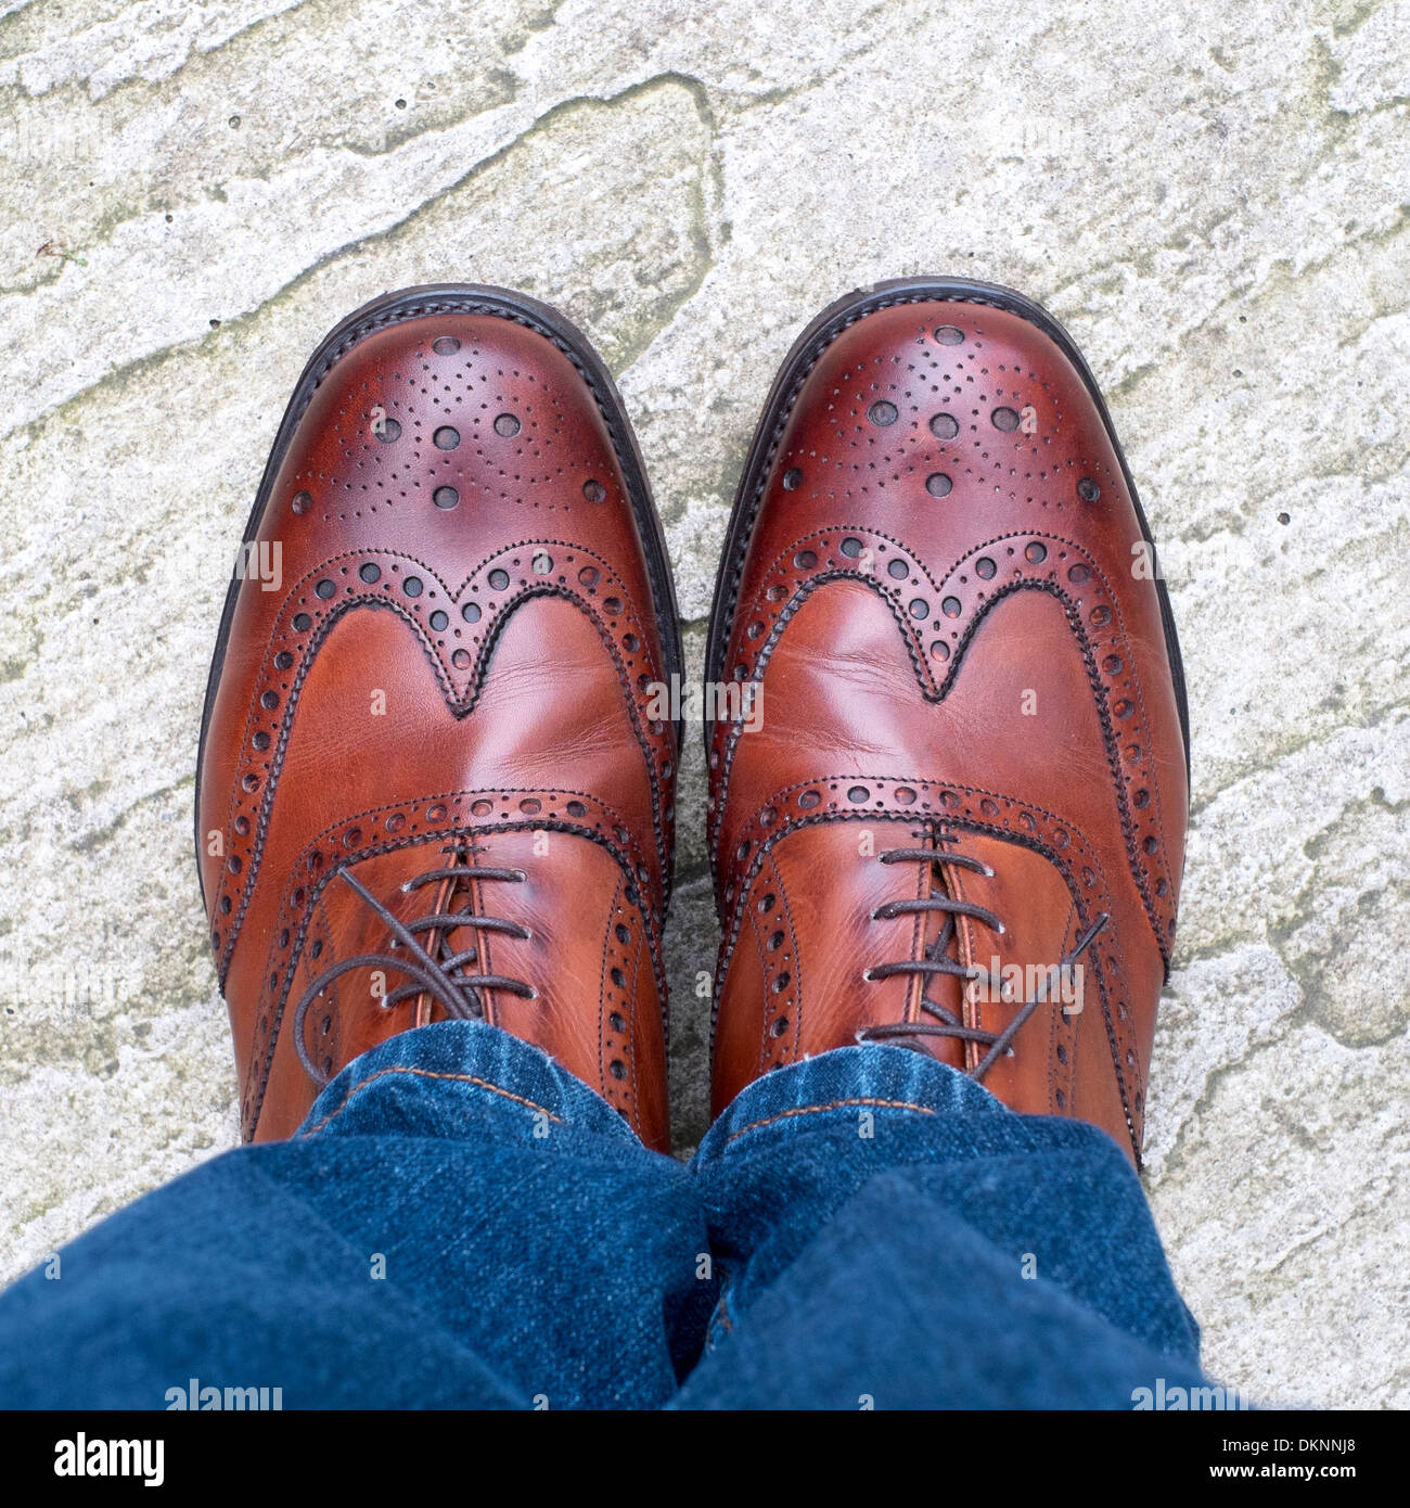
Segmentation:
{"type": "Polygon", "coordinates": [[[0,1297],[3,1405],[1130,1408],[1203,1381],[1117,1146],[891,1047],[768,1074],[686,1166],[535,1048],[440,1022],[54,1268],[0,1297]]]}

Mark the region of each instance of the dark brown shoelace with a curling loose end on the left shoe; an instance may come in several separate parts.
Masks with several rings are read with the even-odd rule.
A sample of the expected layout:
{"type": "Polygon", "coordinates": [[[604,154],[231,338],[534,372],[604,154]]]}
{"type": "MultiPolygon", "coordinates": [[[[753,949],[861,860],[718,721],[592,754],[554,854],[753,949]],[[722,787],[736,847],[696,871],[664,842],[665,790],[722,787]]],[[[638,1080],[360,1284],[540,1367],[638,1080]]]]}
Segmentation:
{"type": "MultiPolygon", "coordinates": [[[[415,890],[421,890],[422,885],[439,884],[440,881],[452,882],[451,896],[454,896],[454,885],[471,879],[504,881],[511,885],[528,879],[528,875],[522,869],[492,869],[472,863],[474,857],[480,852],[483,849],[474,846],[457,846],[451,851],[451,864],[428,869],[424,875],[406,881],[401,887],[403,894],[410,894],[415,890]]],[[[466,965],[478,961],[480,949],[472,947],[454,953],[449,952],[446,941],[455,927],[475,927],[477,932],[501,932],[505,936],[528,941],[528,927],[522,927],[517,921],[507,921],[502,917],[477,917],[471,911],[436,911],[430,915],[418,917],[415,921],[398,921],[348,869],[339,869],[333,878],[341,879],[371,908],[388,932],[391,932],[392,941],[385,953],[357,953],[351,958],[338,959],[336,964],[326,968],[305,989],[299,1004],[294,1007],[294,1047],[299,1051],[299,1062],[309,1078],[320,1087],[329,1083],[330,1075],[309,1056],[303,1041],[305,1021],[309,1007],[318,995],[329,985],[356,968],[382,968],[406,974],[412,980],[412,983],[398,985],[397,989],[385,995],[379,1001],[382,1010],[391,1010],[401,1004],[403,1000],[428,994],[440,1003],[451,1019],[477,1021],[484,1016],[484,1001],[480,994],[483,989],[505,989],[523,1000],[537,998],[538,991],[532,985],[526,985],[522,979],[510,979],[505,974],[467,974],[464,971],[466,965]],[[433,933],[431,950],[421,944],[421,939],[416,936],[418,932],[433,933]]]]}

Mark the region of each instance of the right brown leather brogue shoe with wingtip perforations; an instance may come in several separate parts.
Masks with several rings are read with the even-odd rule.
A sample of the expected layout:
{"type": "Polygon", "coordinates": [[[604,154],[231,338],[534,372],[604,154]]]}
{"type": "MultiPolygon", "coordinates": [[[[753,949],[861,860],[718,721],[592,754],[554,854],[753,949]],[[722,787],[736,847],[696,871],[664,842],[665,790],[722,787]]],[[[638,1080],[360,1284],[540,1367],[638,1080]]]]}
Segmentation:
{"type": "Polygon", "coordinates": [[[1139,1163],[1184,680],[1105,406],[1050,315],[906,280],[804,332],[706,674],[716,1108],[781,1063],[893,1042],[1139,1163]]]}

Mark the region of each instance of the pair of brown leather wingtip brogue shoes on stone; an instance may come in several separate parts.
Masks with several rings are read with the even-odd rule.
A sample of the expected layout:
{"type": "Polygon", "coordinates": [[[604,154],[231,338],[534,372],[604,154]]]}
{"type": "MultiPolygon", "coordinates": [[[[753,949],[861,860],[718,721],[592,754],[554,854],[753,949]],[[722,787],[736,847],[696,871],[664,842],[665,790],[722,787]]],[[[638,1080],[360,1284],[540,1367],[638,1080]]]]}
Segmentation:
{"type": "MultiPolygon", "coordinates": [[[[1188,807],[1149,559],[1092,374],[1035,303],[911,279],[799,336],[704,671],[716,1110],[890,1044],[1139,1161],[1188,807]]],[[[202,724],[247,1139],[385,1038],[483,1018],[668,1146],[682,688],[661,522],[587,339],[481,287],[339,324],[265,467],[202,724]]]]}

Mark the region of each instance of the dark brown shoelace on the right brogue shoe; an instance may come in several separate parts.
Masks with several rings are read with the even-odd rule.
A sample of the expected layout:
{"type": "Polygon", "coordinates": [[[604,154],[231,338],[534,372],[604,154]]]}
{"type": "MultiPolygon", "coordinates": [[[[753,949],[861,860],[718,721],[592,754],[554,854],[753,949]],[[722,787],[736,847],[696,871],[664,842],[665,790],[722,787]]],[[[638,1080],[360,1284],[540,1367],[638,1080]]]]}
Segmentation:
{"type": "MultiPolygon", "coordinates": [[[[915,834],[920,837],[921,834],[915,834]]],[[[879,854],[878,858],[882,864],[926,864],[939,872],[941,864],[953,864],[956,869],[968,869],[977,875],[983,875],[986,879],[994,878],[994,870],[989,869],[982,860],[974,858],[971,854],[958,854],[950,849],[943,849],[939,844],[958,841],[953,832],[936,832],[933,835],[935,847],[914,847],[914,849],[888,849],[885,854],[879,854]]],[[[989,911],[988,906],[979,906],[970,900],[956,900],[952,896],[926,896],[917,897],[915,900],[888,900],[885,905],[878,906],[872,912],[873,921],[890,921],[894,917],[905,915],[924,915],[927,912],[939,912],[944,915],[944,923],[941,924],[939,933],[935,942],[924,950],[923,958],[908,958],[899,959],[894,964],[876,964],[872,968],[863,971],[863,979],[867,980],[882,980],[891,979],[896,974],[918,974],[921,979],[932,979],[935,976],[950,976],[952,979],[962,979],[967,983],[974,980],[988,980],[995,989],[1003,988],[1003,982],[991,971],[985,968],[976,968],[965,964],[955,956],[952,949],[958,947],[958,927],[956,917],[970,917],[971,920],[980,923],[980,926],[988,927],[995,936],[1004,935],[1004,924],[1000,918],[989,911]]],[[[1071,952],[1066,953],[1057,964],[1059,977],[1071,968],[1081,955],[1087,950],[1092,939],[1101,932],[1101,929],[1111,918],[1107,912],[1101,912],[1096,920],[1083,932],[1083,935],[1072,946],[1071,952]]],[[[968,1069],[971,1078],[983,1081],[985,1074],[1003,1057],[1006,1053],[1012,1051],[1010,1044],[1013,1038],[1018,1036],[1019,1028],[1024,1022],[1038,1010],[1039,1006],[1048,1001],[1048,980],[1053,976],[1047,971],[1044,973],[1042,982],[1038,992],[1031,1000],[1024,1000],[1019,1009],[1015,1012],[1012,1021],[1003,1028],[1003,1031],[982,1031],[979,1027],[967,1027],[953,1010],[946,1006],[938,1004],[924,994],[921,988],[920,1009],[926,1015],[932,1016],[930,1021],[896,1021],[884,1025],[864,1027],[857,1033],[858,1042],[891,1042],[894,1047],[911,1047],[906,1038],[955,1038],[961,1042],[979,1042],[988,1051],[968,1069]]],[[[920,1044],[914,1044],[915,1051],[924,1051],[920,1044]]]]}

